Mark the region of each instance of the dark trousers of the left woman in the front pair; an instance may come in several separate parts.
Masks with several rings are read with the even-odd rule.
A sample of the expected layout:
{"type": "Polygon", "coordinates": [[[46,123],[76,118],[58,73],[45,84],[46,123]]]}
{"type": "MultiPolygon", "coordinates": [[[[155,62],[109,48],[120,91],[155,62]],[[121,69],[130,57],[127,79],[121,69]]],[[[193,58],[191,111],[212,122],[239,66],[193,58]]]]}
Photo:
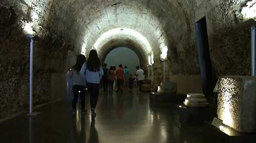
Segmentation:
{"type": "Polygon", "coordinates": [[[77,100],[79,97],[80,91],[80,100],[81,100],[81,108],[85,109],[86,107],[86,87],[83,87],[82,85],[73,85],[73,93],[74,93],[74,99],[72,102],[73,109],[76,109],[77,100]]]}

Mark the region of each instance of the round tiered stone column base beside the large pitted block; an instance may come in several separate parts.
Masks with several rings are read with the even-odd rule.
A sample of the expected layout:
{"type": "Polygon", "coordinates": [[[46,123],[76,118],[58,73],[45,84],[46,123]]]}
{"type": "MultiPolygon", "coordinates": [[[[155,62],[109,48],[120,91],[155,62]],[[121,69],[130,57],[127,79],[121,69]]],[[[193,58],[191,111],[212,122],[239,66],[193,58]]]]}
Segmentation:
{"type": "Polygon", "coordinates": [[[201,93],[189,93],[183,102],[187,107],[206,107],[209,105],[207,99],[201,93]]]}

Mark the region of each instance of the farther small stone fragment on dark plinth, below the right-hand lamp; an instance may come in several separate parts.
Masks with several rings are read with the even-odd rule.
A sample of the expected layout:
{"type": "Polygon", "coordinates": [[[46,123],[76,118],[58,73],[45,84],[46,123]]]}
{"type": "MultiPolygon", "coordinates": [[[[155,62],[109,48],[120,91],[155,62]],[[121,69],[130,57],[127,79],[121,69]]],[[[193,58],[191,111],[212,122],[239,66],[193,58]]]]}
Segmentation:
{"type": "Polygon", "coordinates": [[[164,81],[161,82],[160,86],[157,90],[158,93],[170,93],[175,94],[177,92],[177,83],[176,82],[170,82],[170,81],[164,81]]]}

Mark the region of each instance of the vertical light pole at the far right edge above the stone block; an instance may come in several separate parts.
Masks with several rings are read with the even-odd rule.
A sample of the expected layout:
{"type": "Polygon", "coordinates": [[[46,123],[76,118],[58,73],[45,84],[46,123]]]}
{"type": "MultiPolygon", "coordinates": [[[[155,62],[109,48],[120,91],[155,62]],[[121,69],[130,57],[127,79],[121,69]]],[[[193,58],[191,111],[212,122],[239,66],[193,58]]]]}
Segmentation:
{"type": "Polygon", "coordinates": [[[255,25],[251,26],[251,76],[255,76],[255,25]]]}

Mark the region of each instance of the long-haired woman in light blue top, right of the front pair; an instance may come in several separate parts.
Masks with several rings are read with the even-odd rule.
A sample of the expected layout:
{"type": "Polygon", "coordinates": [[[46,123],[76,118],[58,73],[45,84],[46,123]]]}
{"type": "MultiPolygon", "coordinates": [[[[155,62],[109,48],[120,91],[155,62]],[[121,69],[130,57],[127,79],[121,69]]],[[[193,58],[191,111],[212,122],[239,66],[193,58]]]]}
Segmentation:
{"type": "Polygon", "coordinates": [[[103,76],[103,70],[96,50],[91,50],[87,63],[84,63],[80,74],[86,76],[87,88],[91,94],[92,118],[95,118],[95,108],[99,97],[99,83],[103,76]]]}

